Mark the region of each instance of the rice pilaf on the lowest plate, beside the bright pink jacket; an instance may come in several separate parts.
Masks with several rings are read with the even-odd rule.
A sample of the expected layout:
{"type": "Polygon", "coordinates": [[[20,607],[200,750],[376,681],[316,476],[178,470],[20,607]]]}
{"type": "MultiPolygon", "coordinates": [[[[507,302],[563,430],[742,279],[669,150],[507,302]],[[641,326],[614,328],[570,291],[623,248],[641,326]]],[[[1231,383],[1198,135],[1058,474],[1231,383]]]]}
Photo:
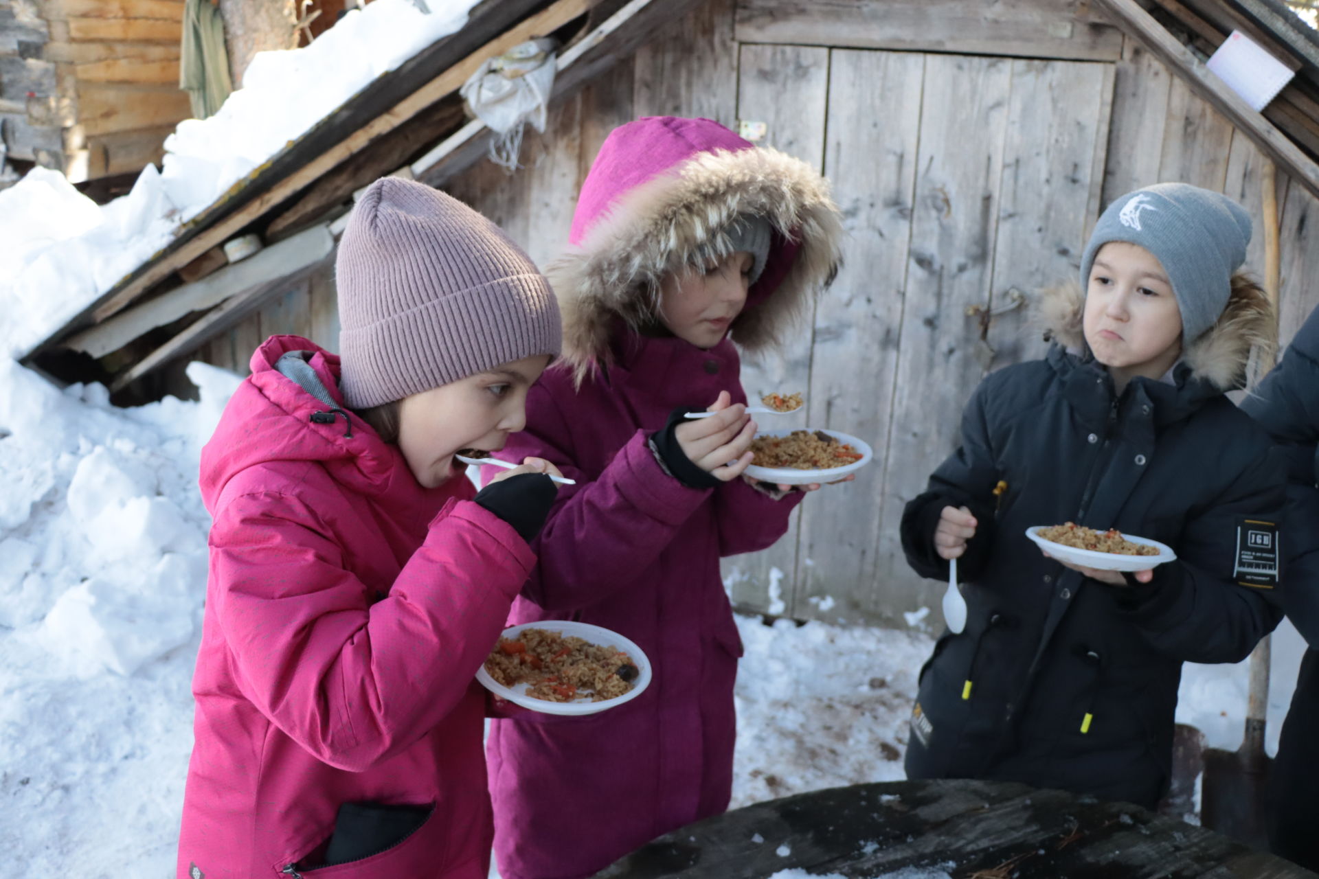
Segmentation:
{"type": "Polygon", "coordinates": [[[543,629],[500,638],[485,671],[504,687],[529,684],[526,695],[547,702],[617,698],[632,689],[638,673],[621,650],[543,629]]]}

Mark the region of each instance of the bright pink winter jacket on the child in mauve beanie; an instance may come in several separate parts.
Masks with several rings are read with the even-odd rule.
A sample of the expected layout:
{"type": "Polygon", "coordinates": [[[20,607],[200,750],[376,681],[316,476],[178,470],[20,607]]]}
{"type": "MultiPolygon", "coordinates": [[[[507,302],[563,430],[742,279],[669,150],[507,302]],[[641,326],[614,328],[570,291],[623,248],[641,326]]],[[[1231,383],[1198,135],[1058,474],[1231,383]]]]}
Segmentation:
{"type": "Polygon", "coordinates": [[[423,489],[356,416],[351,436],[342,415],[313,423],[327,406],[274,369],[297,349],[343,406],[339,358],[274,336],[202,453],[215,525],[178,875],[484,879],[472,675],[534,556],[466,478],[423,489]],[[290,866],[323,861],[344,803],[421,807],[419,826],[290,866]]]}

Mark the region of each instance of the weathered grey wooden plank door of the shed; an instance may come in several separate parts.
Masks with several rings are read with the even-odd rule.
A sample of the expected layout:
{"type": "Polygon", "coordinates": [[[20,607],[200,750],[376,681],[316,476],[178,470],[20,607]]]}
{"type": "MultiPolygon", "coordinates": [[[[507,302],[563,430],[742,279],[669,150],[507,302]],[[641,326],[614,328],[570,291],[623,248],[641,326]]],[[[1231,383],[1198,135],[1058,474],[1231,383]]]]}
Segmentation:
{"type": "MultiPolygon", "coordinates": [[[[923,606],[938,623],[936,584],[902,553],[902,509],[956,448],[984,374],[1043,352],[1029,307],[998,310],[1076,274],[1100,207],[1115,70],[834,49],[827,82],[824,171],[852,239],[810,356],[790,349],[769,374],[782,386],[805,361],[806,420],[871,440],[877,460],[807,498],[799,532],[725,572],[735,598],[764,610],[774,577],[778,613],[902,625],[923,606]]],[[[774,100],[814,127],[813,104],[786,87],[774,100]]],[[[749,390],[757,376],[745,370],[749,390]]]]}

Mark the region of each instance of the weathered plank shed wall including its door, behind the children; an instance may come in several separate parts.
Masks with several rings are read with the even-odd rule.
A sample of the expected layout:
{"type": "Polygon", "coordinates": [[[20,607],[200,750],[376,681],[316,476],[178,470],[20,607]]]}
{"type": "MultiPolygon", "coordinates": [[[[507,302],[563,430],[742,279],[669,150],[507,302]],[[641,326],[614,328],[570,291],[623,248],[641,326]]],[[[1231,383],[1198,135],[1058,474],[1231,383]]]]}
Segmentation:
{"type": "MultiPolygon", "coordinates": [[[[877,460],[809,498],[777,546],[725,561],[743,608],[896,626],[930,608],[939,622],[942,585],[902,559],[902,506],[954,449],[985,372],[1043,352],[1029,303],[1075,277],[1113,198],[1186,181],[1241,200],[1256,219],[1248,268],[1262,277],[1264,157],[1079,1],[989,16],[963,0],[710,0],[551,108],[517,174],[483,162],[450,190],[543,264],[605,134],[646,115],[765,123],[761,142],[834,181],[851,233],[813,323],[781,356],[747,364],[743,383],[806,391],[795,426],[865,438],[877,460]]],[[[1281,173],[1277,191],[1286,341],[1319,302],[1307,285],[1319,207],[1281,173]]],[[[334,348],[331,261],[198,356],[245,372],[274,332],[334,348]]]]}

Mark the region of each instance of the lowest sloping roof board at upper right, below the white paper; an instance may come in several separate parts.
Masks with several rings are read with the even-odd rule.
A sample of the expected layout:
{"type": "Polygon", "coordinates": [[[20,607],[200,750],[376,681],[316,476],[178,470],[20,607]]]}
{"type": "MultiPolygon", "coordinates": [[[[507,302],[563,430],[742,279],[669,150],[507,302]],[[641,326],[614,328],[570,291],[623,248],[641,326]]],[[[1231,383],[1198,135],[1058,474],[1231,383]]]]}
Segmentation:
{"type": "Polygon", "coordinates": [[[1195,94],[1240,128],[1294,181],[1319,196],[1319,165],[1293,144],[1273,123],[1257,113],[1227,83],[1219,79],[1136,0],[1093,0],[1113,22],[1138,40],[1150,53],[1181,75],[1195,94]]]}

